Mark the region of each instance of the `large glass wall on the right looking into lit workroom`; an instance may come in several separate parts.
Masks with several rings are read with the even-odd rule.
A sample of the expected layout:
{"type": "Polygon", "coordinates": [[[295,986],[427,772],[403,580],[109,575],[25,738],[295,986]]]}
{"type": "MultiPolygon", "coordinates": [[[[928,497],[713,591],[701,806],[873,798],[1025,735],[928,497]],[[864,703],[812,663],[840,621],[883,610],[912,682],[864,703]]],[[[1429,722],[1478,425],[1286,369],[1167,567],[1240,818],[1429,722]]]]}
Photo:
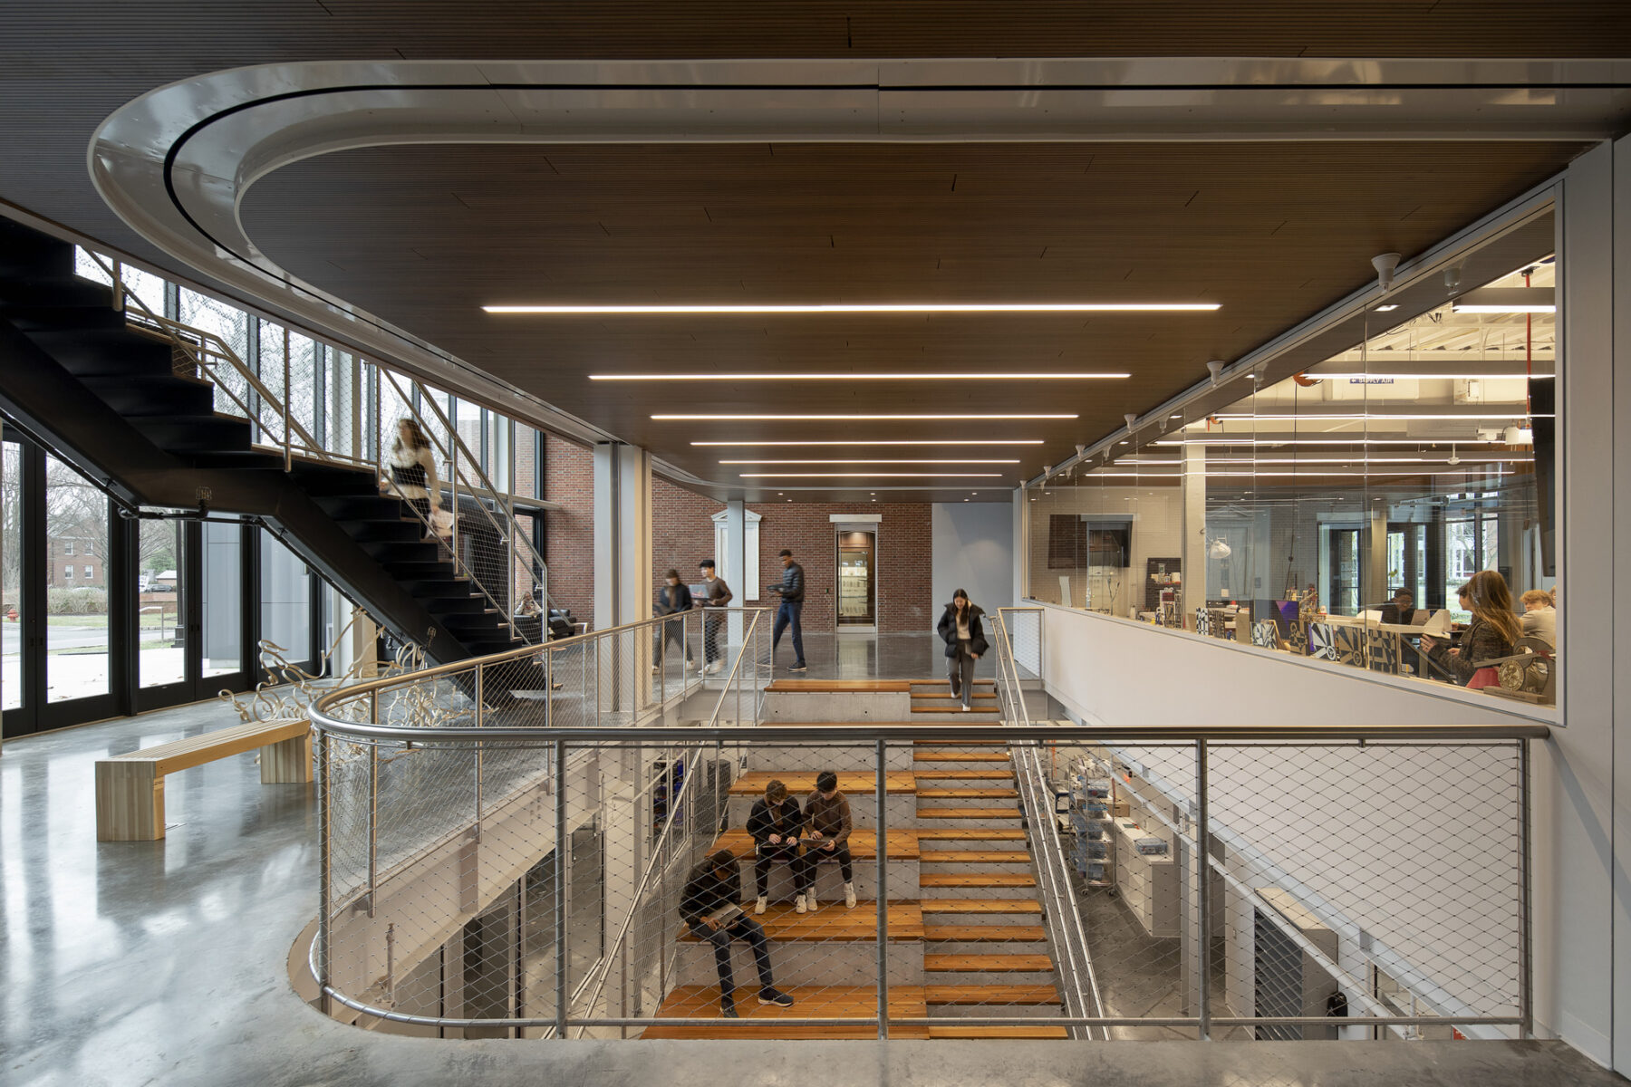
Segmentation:
{"type": "MultiPolygon", "coordinates": [[[[1028,487],[1029,596],[1478,688],[1440,654],[1489,570],[1554,658],[1556,259],[1478,254],[1437,300],[1357,315],[1347,349],[1236,376],[1028,487]]],[[[1525,701],[1549,701],[1530,671],[1525,701]]]]}

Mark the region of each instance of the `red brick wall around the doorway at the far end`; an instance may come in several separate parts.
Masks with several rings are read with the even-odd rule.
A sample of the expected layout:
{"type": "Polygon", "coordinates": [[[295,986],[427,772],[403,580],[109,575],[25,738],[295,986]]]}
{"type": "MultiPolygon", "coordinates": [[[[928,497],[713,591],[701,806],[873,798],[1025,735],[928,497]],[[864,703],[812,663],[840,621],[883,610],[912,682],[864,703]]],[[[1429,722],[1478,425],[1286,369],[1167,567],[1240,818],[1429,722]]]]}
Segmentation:
{"type": "MultiPolygon", "coordinates": [[[[713,515],[723,502],[687,491],[665,479],[651,481],[651,585],[669,567],[687,583],[696,580],[696,564],[713,554],[713,515]]],[[[775,606],[770,585],[781,582],[776,552],[793,549],[804,566],[804,629],[833,631],[837,608],[837,554],[833,513],[881,513],[877,526],[877,629],[884,634],[930,631],[939,610],[930,598],[933,526],[926,502],[770,502],[749,504],[763,520],[758,523],[758,583],[762,606],[775,606]]],[[[551,567],[553,570],[553,567],[551,567]]],[[[740,593],[740,585],[732,585],[740,593]]],[[[740,598],[737,603],[742,603],[740,598]]]]}

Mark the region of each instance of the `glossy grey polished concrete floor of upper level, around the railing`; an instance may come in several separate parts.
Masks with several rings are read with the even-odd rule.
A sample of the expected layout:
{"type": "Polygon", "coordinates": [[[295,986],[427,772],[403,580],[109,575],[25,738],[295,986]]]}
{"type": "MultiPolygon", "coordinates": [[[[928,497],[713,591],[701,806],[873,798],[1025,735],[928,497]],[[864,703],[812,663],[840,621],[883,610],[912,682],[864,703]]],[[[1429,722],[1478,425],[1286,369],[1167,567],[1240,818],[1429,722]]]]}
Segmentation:
{"type": "MultiPolygon", "coordinates": [[[[918,650],[926,655],[923,645],[900,652],[918,650]]],[[[814,640],[807,652],[816,655],[814,640]]],[[[881,650],[884,660],[894,652],[881,650]]],[[[832,663],[842,658],[838,649],[832,663]]],[[[0,1084],[1626,1082],[1556,1043],[550,1043],[372,1035],[325,1019],[289,984],[290,945],[316,908],[308,786],[263,786],[248,756],[210,763],[170,777],[165,841],[96,843],[96,758],[232,722],[228,709],[206,704],[5,745],[0,1084]]]]}

